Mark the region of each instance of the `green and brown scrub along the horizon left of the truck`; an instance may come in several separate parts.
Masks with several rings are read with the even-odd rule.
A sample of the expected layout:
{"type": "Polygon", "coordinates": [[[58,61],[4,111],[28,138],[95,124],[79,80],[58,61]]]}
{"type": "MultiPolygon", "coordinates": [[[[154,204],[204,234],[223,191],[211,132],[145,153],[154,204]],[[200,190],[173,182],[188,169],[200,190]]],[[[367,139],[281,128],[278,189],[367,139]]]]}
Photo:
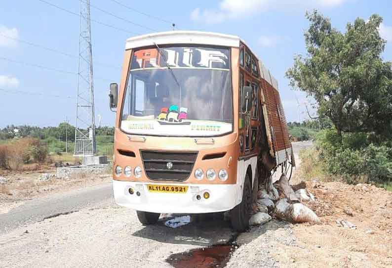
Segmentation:
{"type": "MultiPolygon", "coordinates": [[[[99,127],[95,133],[97,153],[112,156],[114,128],[99,127]]],[[[68,123],[44,128],[7,126],[0,129],[0,169],[20,170],[24,165],[78,161],[73,157],[74,141],[75,127],[68,123]]]]}

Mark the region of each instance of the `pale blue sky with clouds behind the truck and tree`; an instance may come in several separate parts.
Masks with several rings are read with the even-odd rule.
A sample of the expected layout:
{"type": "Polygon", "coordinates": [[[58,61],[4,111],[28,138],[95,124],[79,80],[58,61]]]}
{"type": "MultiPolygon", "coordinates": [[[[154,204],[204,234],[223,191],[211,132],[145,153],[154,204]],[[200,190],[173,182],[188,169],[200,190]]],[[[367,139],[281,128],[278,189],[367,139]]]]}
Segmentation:
{"type": "MultiPolygon", "coordinates": [[[[46,0],[79,12],[79,0],[46,0]]],[[[345,30],[356,17],[383,16],[380,34],[388,43],[383,57],[392,60],[392,3],[389,0],[199,0],[130,1],[116,0],[139,11],[176,23],[181,30],[221,32],[240,36],[263,60],[279,82],[287,121],[297,120],[297,101],[305,95],[293,91],[284,78],[296,53],[304,53],[303,33],[308,27],[305,11],[319,9],[334,27],[345,30]],[[278,2],[278,3],[275,3],[278,2]]],[[[157,31],[171,29],[170,23],[145,16],[111,0],[91,0],[91,4],[157,31]]],[[[129,31],[123,32],[91,23],[94,64],[96,124],[114,125],[115,114],[108,108],[108,89],[120,79],[125,40],[151,32],[91,7],[91,18],[129,31]],[[101,80],[98,78],[103,78],[101,80]]],[[[0,34],[50,47],[71,55],[78,54],[79,18],[39,0],[3,0],[0,8],[0,34]]],[[[61,95],[63,98],[1,91],[0,127],[9,124],[56,126],[66,117],[75,124],[76,85],[74,74],[58,73],[4,60],[33,63],[54,69],[77,72],[78,60],[0,35],[0,89],[61,95]],[[68,96],[68,98],[67,98],[68,96]]],[[[301,120],[306,118],[301,109],[301,120]]]]}

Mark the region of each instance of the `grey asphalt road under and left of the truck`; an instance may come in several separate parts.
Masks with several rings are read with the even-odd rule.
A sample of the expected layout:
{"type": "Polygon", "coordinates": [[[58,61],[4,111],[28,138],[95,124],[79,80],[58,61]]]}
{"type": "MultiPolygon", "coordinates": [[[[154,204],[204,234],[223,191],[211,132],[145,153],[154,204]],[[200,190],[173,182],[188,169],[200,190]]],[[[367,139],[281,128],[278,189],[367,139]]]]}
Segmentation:
{"type": "MultiPolygon", "coordinates": [[[[295,143],[294,152],[310,145],[295,143]]],[[[174,228],[170,221],[181,222],[174,217],[141,225],[135,211],[115,204],[111,183],[38,198],[0,215],[0,267],[169,268],[172,254],[235,239],[222,218],[185,216],[189,221],[174,228]]],[[[259,260],[259,246],[252,250],[257,258],[245,267],[275,267],[267,252],[259,260]]]]}

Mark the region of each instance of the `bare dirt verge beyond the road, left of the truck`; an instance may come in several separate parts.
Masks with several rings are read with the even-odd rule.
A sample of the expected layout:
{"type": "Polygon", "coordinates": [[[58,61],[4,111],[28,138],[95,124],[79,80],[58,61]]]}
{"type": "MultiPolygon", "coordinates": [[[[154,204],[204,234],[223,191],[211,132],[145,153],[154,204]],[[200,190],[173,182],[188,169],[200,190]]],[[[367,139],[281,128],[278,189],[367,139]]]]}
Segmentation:
{"type": "Polygon", "coordinates": [[[56,168],[44,166],[34,171],[0,171],[0,176],[7,180],[0,184],[0,214],[9,212],[27,200],[112,180],[111,174],[81,174],[69,179],[56,179],[51,176],[48,180],[41,180],[42,174],[55,175],[56,168]]]}

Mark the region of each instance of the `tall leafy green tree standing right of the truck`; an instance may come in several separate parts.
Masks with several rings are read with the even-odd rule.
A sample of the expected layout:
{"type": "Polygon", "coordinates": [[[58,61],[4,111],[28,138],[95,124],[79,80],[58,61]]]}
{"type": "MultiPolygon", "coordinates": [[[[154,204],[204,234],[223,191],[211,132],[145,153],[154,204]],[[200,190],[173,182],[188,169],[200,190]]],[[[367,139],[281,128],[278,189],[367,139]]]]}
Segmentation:
{"type": "Polygon", "coordinates": [[[286,72],[290,86],[316,100],[318,114],[331,119],[340,137],[342,132],[391,137],[392,63],[381,58],[386,44],[379,34],[382,17],[357,18],[345,33],[317,10],[306,17],[308,55],[294,57],[286,72]]]}

